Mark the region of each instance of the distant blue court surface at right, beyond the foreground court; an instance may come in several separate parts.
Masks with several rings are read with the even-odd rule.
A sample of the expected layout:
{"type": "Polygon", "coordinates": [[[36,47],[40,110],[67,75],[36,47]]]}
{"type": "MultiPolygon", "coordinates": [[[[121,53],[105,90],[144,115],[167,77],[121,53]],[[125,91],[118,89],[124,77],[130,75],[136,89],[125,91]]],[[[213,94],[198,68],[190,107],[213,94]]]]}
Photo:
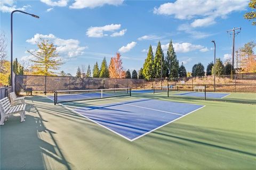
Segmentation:
{"type": "MultiPolygon", "coordinates": [[[[204,92],[186,92],[186,93],[179,93],[174,95],[182,95],[182,96],[191,96],[191,97],[198,97],[198,98],[204,98],[204,92]]],[[[206,98],[225,98],[229,94],[227,93],[210,93],[206,92],[206,98]]]]}

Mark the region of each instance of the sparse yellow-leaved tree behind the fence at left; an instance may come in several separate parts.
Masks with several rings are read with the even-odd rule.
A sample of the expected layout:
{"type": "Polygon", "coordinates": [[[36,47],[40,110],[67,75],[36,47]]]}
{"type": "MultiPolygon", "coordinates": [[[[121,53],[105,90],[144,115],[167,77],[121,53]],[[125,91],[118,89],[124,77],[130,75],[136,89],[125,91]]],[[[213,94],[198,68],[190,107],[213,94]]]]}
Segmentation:
{"type": "Polygon", "coordinates": [[[59,66],[63,64],[61,59],[58,59],[59,53],[57,52],[57,47],[54,46],[53,43],[49,43],[49,41],[45,40],[37,42],[37,47],[37,51],[28,51],[35,57],[35,60],[30,60],[34,62],[34,74],[46,76],[53,75],[54,72],[52,70],[58,70],[59,66]]]}

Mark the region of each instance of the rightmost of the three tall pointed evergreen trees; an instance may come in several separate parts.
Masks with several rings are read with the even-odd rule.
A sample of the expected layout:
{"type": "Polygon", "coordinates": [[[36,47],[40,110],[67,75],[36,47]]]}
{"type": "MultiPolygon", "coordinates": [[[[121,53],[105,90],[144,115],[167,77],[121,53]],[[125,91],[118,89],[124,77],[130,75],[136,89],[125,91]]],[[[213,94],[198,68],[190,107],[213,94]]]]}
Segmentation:
{"type": "Polygon", "coordinates": [[[175,79],[178,78],[179,73],[179,61],[177,60],[176,53],[174,51],[174,47],[172,45],[172,41],[169,43],[169,47],[167,50],[166,56],[166,65],[169,72],[169,78],[175,79]]]}

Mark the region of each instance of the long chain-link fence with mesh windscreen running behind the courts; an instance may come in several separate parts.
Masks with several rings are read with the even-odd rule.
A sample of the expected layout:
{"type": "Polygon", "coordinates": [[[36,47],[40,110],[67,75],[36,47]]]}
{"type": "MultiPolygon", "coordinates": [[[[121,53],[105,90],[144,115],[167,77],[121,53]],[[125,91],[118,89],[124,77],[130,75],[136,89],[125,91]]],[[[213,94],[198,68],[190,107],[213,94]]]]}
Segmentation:
{"type": "MultiPolygon", "coordinates": [[[[125,79],[125,78],[80,78],[66,76],[33,76],[15,75],[15,91],[20,92],[26,88],[33,91],[53,92],[56,90],[89,90],[103,88],[153,89],[154,87],[170,85],[183,85],[182,88],[193,90],[197,84],[209,85],[209,90],[214,91],[214,77],[186,77],[177,80],[170,79],[125,79]]],[[[215,89],[229,90],[232,92],[255,92],[256,74],[221,75],[215,77],[215,89]],[[226,85],[226,86],[223,86],[226,85]]]]}

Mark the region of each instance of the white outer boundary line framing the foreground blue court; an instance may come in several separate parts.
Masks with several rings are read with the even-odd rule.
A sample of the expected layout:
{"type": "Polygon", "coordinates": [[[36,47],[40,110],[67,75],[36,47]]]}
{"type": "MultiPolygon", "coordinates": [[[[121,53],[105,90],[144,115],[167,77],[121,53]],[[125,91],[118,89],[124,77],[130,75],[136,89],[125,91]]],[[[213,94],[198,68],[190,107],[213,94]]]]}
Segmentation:
{"type": "MultiPolygon", "coordinates": [[[[46,98],[48,98],[48,96],[46,96],[46,98]]],[[[48,99],[52,100],[51,98],[48,98],[48,99]]],[[[142,99],[145,99],[145,98],[142,98],[142,99]]],[[[153,100],[156,100],[156,99],[153,99],[153,100]]],[[[137,100],[131,100],[131,101],[137,101],[137,100]]],[[[140,100],[138,100],[138,101],[140,101],[140,100]]],[[[158,100],[158,101],[161,101],[161,100],[158,100]]],[[[116,103],[122,103],[122,102],[116,102],[116,103]]],[[[176,103],[180,103],[180,102],[176,102],[176,103]]],[[[66,108],[66,109],[68,109],[68,110],[70,110],[70,111],[75,112],[76,114],[78,114],[78,115],[80,115],[80,116],[82,116],[82,117],[84,117],[84,118],[90,120],[91,122],[93,122],[93,123],[95,123],[95,124],[97,124],[97,125],[99,125],[99,126],[101,126],[101,127],[104,127],[104,128],[106,128],[106,129],[108,129],[110,132],[113,132],[113,133],[115,133],[115,134],[117,134],[117,135],[123,137],[124,139],[130,141],[130,142],[133,142],[133,141],[139,139],[140,137],[143,137],[143,136],[145,136],[145,135],[147,135],[147,134],[149,134],[149,133],[151,133],[151,132],[154,132],[154,131],[156,131],[157,129],[159,129],[159,128],[161,128],[161,127],[164,127],[164,126],[166,126],[166,125],[168,125],[168,124],[170,124],[170,123],[172,123],[172,122],[175,122],[176,120],[178,120],[178,119],[180,119],[180,118],[182,118],[182,117],[185,117],[185,116],[187,116],[187,115],[189,115],[189,114],[191,114],[191,113],[193,113],[193,112],[195,112],[195,111],[197,111],[197,110],[202,109],[202,108],[205,107],[205,105],[196,104],[196,105],[202,106],[202,107],[200,107],[200,108],[198,108],[198,109],[196,109],[196,110],[190,111],[188,114],[183,115],[183,116],[180,116],[180,117],[178,117],[177,119],[172,120],[171,122],[167,122],[166,124],[163,124],[163,125],[158,126],[158,127],[154,128],[154,129],[151,129],[150,131],[148,131],[148,132],[146,132],[146,133],[143,133],[143,134],[140,135],[140,136],[137,136],[137,137],[135,137],[135,138],[133,138],[133,139],[129,139],[128,137],[126,137],[126,136],[124,136],[124,135],[122,135],[122,134],[119,134],[118,132],[116,132],[116,131],[114,131],[114,130],[112,130],[112,129],[110,129],[110,128],[104,126],[104,125],[101,125],[101,124],[98,123],[98,122],[95,122],[94,120],[90,119],[89,117],[84,116],[84,115],[80,114],[79,112],[77,112],[77,111],[75,111],[75,110],[73,110],[73,109],[71,109],[71,108],[69,108],[69,107],[67,107],[67,106],[65,106],[65,105],[63,105],[63,104],[61,104],[61,103],[57,103],[57,104],[63,106],[64,108],[66,108]]],[[[111,104],[114,104],[114,103],[111,103],[111,104]]],[[[123,104],[125,104],[125,103],[123,103],[123,104]]],[[[187,103],[187,104],[190,104],[190,103],[187,103]]],[[[150,109],[150,108],[148,108],[148,109],[150,109]]],[[[157,111],[157,110],[156,110],[156,111],[157,111]]]]}

